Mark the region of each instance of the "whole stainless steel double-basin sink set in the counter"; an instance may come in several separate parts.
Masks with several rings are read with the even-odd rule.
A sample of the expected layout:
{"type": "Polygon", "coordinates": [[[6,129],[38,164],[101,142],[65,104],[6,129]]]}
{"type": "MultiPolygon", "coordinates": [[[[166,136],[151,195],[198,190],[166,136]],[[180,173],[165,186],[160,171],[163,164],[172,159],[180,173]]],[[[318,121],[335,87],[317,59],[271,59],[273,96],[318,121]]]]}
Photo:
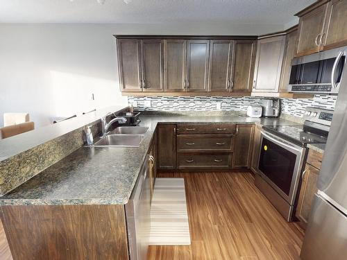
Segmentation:
{"type": "Polygon", "coordinates": [[[149,128],[142,126],[120,126],[101,137],[95,147],[139,147],[149,128]]]}

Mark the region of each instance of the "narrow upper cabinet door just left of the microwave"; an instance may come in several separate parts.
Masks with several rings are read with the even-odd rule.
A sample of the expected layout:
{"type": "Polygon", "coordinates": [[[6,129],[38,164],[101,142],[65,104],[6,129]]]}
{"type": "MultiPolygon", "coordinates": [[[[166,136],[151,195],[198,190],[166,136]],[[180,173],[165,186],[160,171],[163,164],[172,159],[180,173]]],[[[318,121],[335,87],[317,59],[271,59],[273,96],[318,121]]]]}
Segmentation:
{"type": "Polygon", "coordinates": [[[285,57],[283,58],[281,77],[280,77],[280,92],[288,92],[289,77],[291,70],[291,60],[293,60],[296,44],[298,42],[298,30],[288,33],[285,40],[285,57]]]}

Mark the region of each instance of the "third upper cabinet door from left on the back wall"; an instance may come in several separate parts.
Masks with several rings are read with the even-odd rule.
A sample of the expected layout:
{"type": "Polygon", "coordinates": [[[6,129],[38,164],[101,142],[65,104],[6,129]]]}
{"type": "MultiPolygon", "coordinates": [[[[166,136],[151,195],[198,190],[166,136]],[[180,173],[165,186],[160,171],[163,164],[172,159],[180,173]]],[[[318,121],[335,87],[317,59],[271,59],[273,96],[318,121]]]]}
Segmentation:
{"type": "Polygon", "coordinates": [[[184,92],[187,40],[164,40],[165,92],[184,92]]]}

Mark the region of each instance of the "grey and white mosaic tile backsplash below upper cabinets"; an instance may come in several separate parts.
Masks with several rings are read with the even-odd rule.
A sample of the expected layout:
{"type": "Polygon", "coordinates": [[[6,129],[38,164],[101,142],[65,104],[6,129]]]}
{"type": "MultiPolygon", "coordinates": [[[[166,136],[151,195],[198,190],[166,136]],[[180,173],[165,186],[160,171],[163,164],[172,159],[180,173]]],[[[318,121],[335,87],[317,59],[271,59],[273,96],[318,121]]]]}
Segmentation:
{"type": "MultiPolygon", "coordinates": [[[[337,96],[315,95],[314,98],[281,98],[281,112],[302,117],[306,107],[334,110],[337,96]]],[[[240,96],[129,96],[128,103],[140,111],[246,111],[248,105],[264,98],[240,96]]]]}

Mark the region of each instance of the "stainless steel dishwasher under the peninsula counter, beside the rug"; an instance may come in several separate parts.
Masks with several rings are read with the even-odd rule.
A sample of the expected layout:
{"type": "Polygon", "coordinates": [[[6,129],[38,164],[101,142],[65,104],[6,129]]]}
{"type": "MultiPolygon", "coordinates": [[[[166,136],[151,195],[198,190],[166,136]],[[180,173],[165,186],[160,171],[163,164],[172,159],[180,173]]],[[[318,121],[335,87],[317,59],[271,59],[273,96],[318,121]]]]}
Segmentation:
{"type": "Polygon", "coordinates": [[[144,161],[129,202],[126,204],[130,260],[147,259],[151,229],[151,192],[148,162],[149,156],[144,161]]]}

